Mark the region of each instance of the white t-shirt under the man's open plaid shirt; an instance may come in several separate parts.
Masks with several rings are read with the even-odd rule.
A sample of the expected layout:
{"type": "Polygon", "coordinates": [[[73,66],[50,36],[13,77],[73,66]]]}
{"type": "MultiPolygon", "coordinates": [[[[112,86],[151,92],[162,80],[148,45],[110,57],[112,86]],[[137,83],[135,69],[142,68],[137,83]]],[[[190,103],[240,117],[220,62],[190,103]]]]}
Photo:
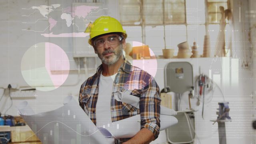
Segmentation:
{"type": "Polygon", "coordinates": [[[116,74],[112,76],[100,75],[99,94],[96,104],[96,126],[111,126],[111,95],[116,74]]]}

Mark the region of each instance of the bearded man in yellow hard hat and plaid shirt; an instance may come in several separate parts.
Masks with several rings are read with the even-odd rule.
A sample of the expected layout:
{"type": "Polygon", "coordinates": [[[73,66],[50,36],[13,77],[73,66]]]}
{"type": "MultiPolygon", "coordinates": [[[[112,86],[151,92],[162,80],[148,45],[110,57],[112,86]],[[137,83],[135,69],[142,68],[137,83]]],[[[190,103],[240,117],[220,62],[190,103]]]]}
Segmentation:
{"type": "Polygon", "coordinates": [[[113,143],[148,144],[158,137],[160,130],[159,87],[150,74],[124,59],[126,37],[120,22],[109,16],[100,16],[90,25],[88,42],[102,64],[82,84],[79,103],[96,126],[109,126],[140,114],[141,130],[133,138],[113,139],[113,143]],[[114,93],[124,90],[140,98],[140,109],[114,99],[114,93]]]}

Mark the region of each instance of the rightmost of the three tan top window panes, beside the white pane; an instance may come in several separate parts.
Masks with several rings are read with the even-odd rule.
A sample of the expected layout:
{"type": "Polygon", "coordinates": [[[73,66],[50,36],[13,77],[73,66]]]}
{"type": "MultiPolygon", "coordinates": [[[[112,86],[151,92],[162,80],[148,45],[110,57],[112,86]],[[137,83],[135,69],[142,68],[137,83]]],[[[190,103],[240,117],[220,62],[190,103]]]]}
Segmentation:
{"type": "Polygon", "coordinates": [[[164,23],[184,24],[186,23],[184,0],[164,0],[164,23]]]}

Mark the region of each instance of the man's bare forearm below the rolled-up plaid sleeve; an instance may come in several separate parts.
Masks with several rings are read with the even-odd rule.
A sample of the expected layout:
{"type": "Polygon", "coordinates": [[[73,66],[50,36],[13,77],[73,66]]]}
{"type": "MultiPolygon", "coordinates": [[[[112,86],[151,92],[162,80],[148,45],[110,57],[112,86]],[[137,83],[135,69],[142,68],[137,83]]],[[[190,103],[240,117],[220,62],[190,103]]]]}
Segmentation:
{"type": "Polygon", "coordinates": [[[142,128],[133,138],[123,144],[149,144],[154,140],[154,134],[147,128],[142,128]]]}

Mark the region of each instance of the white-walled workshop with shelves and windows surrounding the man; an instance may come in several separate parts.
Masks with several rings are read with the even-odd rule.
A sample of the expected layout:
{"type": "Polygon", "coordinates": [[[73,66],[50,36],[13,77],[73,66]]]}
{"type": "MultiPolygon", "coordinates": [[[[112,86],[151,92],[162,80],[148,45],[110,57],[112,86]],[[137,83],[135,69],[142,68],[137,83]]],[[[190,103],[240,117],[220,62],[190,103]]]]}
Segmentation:
{"type": "Polygon", "coordinates": [[[159,86],[150,144],[256,144],[255,0],[1,0],[0,144],[105,144],[135,127],[104,135],[80,121],[80,86],[102,64],[88,44],[100,16],[122,24],[125,60],[159,86]]]}

